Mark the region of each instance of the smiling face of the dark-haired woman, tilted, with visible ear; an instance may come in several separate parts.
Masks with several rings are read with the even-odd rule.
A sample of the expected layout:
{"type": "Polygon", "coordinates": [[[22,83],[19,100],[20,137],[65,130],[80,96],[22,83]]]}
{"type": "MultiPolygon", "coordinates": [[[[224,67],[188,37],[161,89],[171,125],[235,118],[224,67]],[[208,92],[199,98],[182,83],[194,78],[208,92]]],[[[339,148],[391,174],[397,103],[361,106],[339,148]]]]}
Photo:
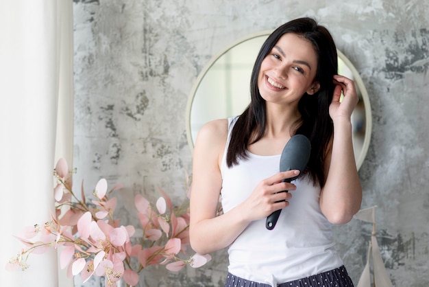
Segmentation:
{"type": "Polygon", "coordinates": [[[297,34],[284,34],[260,65],[260,95],[267,103],[297,104],[304,93],[312,95],[319,90],[314,80],[316,70],[312,44],[297,34]]]}

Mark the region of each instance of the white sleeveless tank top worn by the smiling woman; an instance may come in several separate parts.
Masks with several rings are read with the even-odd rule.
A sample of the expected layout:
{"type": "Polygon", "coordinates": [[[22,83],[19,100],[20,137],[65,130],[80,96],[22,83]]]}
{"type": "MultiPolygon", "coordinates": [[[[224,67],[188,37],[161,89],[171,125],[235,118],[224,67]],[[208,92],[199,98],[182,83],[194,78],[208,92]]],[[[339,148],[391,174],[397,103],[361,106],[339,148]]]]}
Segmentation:
{"type": "MultiPolygon", "coordinates": [[[[230,118],[228,140],[221,163],[223,211],[243,202],[263,179],[280,172],[280,154],[260,156],[248,152],[228,168],[226,152],[238,117],[230,118]]],[[[289,206],[282,209],[273,230],[265,228],[266,218],[251,222],[229,246],[228,271],[255,282],[277,284],[330,271],[343,265],[334,249],[332,225],[319,207],[319,185],[308,177],[293,181],[289,206]]]]}

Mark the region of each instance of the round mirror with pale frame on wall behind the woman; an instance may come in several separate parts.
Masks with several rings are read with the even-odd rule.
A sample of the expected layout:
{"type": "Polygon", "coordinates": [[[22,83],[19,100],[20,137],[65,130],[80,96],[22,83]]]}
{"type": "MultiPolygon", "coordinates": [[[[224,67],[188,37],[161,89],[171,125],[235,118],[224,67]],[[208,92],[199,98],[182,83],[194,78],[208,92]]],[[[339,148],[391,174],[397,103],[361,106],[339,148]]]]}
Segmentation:
{"type": "MultiPolygon", "coordinates": [[[[250,102],[249,81],[259,49],[271,31],[233,43],[212,58],[199,74],[186,107],[186,133],[193,149],[199,128],[213,119],[240,115],[250,102]]],[[[367,90],[352,62],[338,52],[339,74],[356,84],[359,102],[352,113],[353,146],[357,168],[367,154],[371,137],[371,106],[367,90]]]]}

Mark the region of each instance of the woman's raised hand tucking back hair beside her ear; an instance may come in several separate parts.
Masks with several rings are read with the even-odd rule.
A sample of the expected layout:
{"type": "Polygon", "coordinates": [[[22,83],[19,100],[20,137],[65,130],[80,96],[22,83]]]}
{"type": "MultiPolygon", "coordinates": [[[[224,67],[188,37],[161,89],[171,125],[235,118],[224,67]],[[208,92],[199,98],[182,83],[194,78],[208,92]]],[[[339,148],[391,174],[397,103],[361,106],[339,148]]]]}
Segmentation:
{"type": "Polygon", "coordinates": [[[332,120],[338,117],[350,119],[356,104],[358,103],[358,95],[354,86],[354,81],[344,76],[334,75],[334,95],[329,106],[329,115],[332,120]],[[343,92],[343,100],[340,103],[341,91],[343,92]]]}

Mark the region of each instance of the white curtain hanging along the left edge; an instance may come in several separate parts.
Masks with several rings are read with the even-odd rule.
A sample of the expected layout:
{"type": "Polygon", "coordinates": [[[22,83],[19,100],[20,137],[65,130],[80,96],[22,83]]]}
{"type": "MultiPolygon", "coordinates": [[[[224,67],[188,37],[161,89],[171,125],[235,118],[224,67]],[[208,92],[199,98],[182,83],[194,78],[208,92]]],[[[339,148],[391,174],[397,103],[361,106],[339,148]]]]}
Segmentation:
{"type": "Polygon", "coordinates": [[[13,235],[49,220],[57,159],[71,165],[72,0],[0,0],[0,132],[0,284],[73,286],[53,249],[4,268],[23,248],[13,235]]]}

